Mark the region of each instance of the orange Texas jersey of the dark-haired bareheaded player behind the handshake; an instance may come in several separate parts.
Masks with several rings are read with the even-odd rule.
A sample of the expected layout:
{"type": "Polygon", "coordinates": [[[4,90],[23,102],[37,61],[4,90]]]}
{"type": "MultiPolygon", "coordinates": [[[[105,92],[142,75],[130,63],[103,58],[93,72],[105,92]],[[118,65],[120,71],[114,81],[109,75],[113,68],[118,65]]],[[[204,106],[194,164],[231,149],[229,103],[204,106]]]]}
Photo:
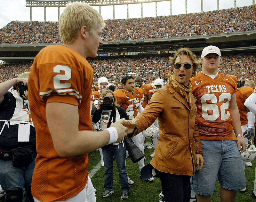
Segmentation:
{"type": "Polygon", "coordinates": [[[140,101],[144,95],[143,90],[138,87],[134,87],[133,94],[124,89],[115,90],[114,94],[116,96],[117,103],[124,108],[129,119],[134,119],[138,114],[140,101]]]}

